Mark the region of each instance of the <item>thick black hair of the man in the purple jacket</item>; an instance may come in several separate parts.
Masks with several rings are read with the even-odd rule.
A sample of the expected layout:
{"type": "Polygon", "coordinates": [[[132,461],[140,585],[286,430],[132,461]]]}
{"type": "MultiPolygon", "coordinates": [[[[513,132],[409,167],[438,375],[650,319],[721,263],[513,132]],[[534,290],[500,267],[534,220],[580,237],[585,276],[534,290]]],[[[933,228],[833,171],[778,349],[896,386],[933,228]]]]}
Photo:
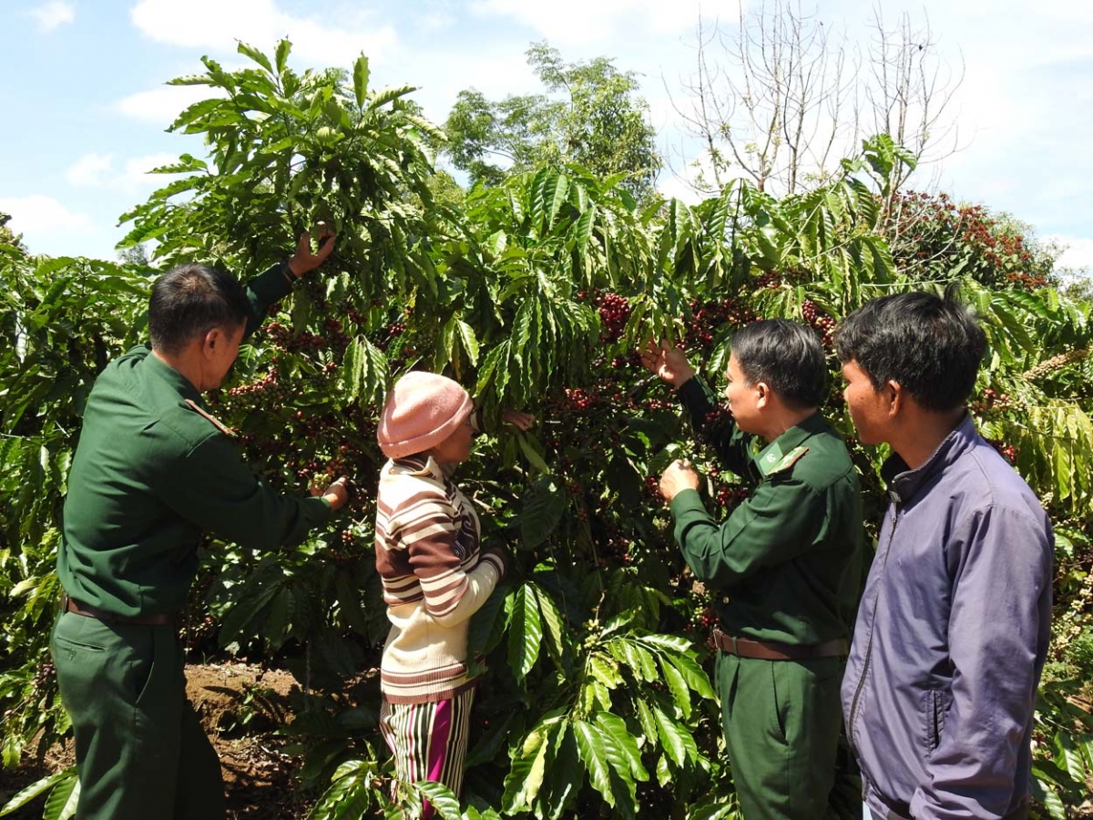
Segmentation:
{"type": "Polygon", "coordinates": [[[896,382],[925,409],[944,412],[972,394],[987,338],[950,288],[943,297],[915,291],[867,302],[839,324],[835,350],[877,389],[896,382]]]}

